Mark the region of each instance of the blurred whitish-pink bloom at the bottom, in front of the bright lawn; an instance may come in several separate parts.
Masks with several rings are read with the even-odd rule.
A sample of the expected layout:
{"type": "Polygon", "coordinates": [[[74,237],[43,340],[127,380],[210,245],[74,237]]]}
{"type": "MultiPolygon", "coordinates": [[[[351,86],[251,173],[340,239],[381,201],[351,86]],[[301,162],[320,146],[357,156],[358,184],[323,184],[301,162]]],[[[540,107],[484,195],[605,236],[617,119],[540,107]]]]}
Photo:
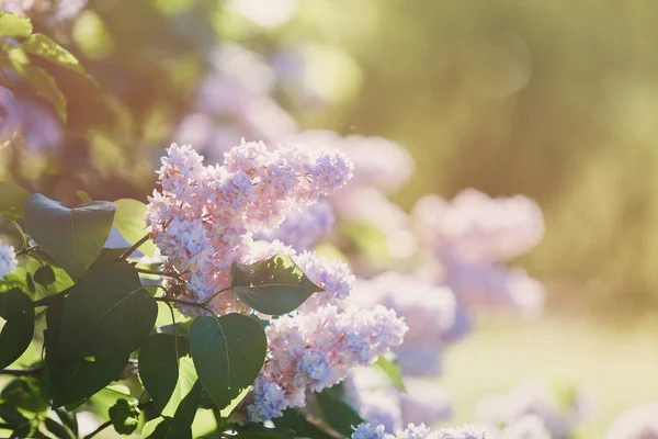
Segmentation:
{"type": "Polygon", "coordinates": [[[484,398],[478,404],[477,417],[486,425],[510,426],[524,416],[535,415],[553,437],[567,438],[591,414],[591,398],[590,392],[581,391],[565,407],[544,383],[526,380],[509,394],[484,398]]]}

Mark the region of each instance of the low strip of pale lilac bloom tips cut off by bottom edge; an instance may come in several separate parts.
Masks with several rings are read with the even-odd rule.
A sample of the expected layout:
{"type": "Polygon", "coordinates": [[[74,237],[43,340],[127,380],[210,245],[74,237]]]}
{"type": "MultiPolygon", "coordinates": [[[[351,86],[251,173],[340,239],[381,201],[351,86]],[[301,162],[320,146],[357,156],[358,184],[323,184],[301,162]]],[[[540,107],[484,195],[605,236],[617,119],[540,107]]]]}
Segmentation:
{"type": "Polygon", "coordinates": [[[354,429],[352,439],[487,439],[489,437],[486,430],[472,425],[430,430],[424,424],[419,426],[409,424],[407,428],[395,435],[387,434],[384,426],[361,424],[352,428],[354,429]]]}

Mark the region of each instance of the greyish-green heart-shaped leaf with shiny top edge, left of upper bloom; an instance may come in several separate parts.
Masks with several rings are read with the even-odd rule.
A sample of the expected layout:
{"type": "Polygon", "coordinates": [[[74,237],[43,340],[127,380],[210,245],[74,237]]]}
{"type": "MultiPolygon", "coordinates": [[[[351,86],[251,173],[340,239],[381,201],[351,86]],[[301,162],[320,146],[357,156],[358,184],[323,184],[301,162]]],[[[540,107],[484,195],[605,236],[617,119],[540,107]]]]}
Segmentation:
{"type": "Polygon", "coordinates": [[[39,193],[25,204],[25,228],[73,279],[81,278],[107,240],[115,206],[94,201],[68,209],[39,193]]]}

